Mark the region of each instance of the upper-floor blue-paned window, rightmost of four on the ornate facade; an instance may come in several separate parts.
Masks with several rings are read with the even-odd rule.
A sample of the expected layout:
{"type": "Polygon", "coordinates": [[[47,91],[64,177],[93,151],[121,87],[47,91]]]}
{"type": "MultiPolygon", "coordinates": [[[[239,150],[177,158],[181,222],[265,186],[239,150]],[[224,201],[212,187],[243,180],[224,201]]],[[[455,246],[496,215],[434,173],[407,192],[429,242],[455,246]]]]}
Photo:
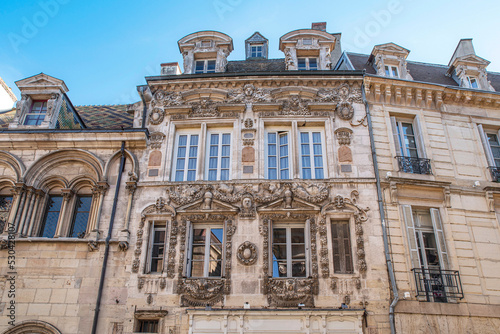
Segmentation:
{"type": "Polygon", "coordinates": [[[323,179],[321,132],[300,133],[300,161],[303,179],[323,179]]]}

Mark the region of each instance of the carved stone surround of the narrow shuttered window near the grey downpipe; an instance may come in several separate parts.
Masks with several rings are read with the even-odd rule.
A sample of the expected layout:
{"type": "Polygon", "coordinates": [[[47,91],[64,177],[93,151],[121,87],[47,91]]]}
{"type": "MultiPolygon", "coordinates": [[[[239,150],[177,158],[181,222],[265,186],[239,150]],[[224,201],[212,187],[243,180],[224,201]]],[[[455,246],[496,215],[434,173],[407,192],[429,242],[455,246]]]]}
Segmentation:
{"type": "Polygon", "coordinates": [[[354,223],[355,223],[355,231],[356,231],[356,254],[358,257],[358,270],[360,273],[365,273],[367,270],[366,260],[365,260],[365,247],[364,247],[364,238],[363,238],[363,223],[368,220],[366,212],[370,210],[370,208],[362,208],[357,204],[357,200],[359,197],[359,193],[357,190],[353,190],[351,192],[351,197],[342,197],[341,195],[335,196],[332,203],[327,204],[323,207],[320,219],[320,244],[321,244],[321,258],[320,258],[320,267],[321,267],[321,276],[323,278],[328,278],[330,275],[329,266],[328,266],[328,245],[326,243],[326,214],[325,211],[329,209],[343,210],[347,206],[354,208],[356,211],[354,212],[354,223]]]}

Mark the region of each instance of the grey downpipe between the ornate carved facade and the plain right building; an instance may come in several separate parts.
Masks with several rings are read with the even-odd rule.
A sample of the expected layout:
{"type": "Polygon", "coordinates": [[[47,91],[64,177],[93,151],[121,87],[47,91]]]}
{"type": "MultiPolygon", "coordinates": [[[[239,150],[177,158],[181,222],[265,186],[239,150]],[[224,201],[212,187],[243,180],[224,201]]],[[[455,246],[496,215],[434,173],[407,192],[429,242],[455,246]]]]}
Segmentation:
{"type": "Polygon", "coordinates": [[[375,139],[373,137],[373,127],[372,127],[372,118],[370,115],[370,106],[368,101],[366,100],[365,95],[365,85],[363,83],[361,87],[361,92],[363,94],[363,102],[366,108],[366,118],[368,122],[368,132],[370,134],[370,146],[372,151],[372,159],[373,159],[373,169],[375,171],[375,179],[377,181],[377,197],[378,197],[378,207],[380,211],[380,220],[382,222],[382,237],[384,240],[384,253],[385,253],[385,262],[387,263],[387,271],[389,272],[389,280],[391,282],[391,290],[394,295],[394,299],[389,306],[389,322],[391,325],[391,333],[396,334],[396,323],[394,319],[394,309],[396,304],[399,301],[398,288],[396,285],[396,278],[394,277],[394,269],[392,267],[391,254],[389,251],[389,240],[387,238],[387,229],[386,229],[386,219],[385,219],[385,211],[384,211],[384,200],[382,197],[382,187],[380,185],[380,173],[378,170],[378,162],[377,162],[377,154],[375,151],[375,139]]]}

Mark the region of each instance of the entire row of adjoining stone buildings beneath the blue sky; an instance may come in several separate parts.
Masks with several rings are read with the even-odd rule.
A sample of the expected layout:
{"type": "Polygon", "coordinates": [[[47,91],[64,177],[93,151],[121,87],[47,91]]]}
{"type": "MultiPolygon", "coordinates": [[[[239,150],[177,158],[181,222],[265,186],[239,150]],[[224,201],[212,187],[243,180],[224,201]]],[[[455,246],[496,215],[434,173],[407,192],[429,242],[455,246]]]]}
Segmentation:
{"type": "Polygon", "coordinates": [[[162,64],[133,105],[16,83],[2,333],[498,330],[497,76],[471,43],[447,68],[342,53],[324,24],[282,59],[258,32],[241,61],[220,32],[178,45],[183,73],[162,64]]]}

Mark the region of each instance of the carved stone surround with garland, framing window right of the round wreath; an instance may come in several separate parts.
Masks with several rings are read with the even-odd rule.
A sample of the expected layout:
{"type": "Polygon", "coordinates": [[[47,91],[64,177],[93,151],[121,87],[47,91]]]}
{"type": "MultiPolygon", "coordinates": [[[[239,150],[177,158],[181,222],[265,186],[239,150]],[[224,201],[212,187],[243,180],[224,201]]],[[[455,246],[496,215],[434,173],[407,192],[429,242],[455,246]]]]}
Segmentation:
{"type": "Polygon", "coordinates": [[[264,293],[267,295],[270,306],[297,307],[304,304],[306,307],[314,307],[313,295],[318,294],[318,266],[316,256],[316,224],[313,218],[307,214],[266,214],[263,217],[259,232],[263,236],[263,273],[264,293]],[[269,277],[269,228],[273,220],[277,219],[304,219],[309,220],[311,234],[311,278],[270,278],[269,277]],[[316,264],[316,265],[315,265],[316,264]]]}

